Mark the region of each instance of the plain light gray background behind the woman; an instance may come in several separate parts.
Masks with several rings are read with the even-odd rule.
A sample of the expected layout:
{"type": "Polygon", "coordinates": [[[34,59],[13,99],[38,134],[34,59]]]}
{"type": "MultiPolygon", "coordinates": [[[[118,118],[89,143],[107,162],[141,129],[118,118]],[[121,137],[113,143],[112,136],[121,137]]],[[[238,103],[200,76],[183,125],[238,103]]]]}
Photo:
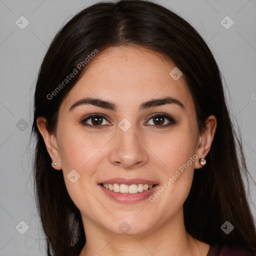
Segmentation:
{"type": "MultiPolygon", "coordinates": [[[[34,145],[29,144],[36,75],[47,46],[62,23],[95,2],[98,1],[0,0],[2,256],[46,255],[32,190],[34,145]],[[22,15],[29,21],[24,29],[15,23],[22,15]],[[20,221],[29,226],[24,234],[20,234],[25,231],[20,221]]],[[[256,180],[256,0],[156,2],[186,19],[207,41],[227,84],[230,111],[241,129],[248,169],[256,180]],[[229,29],[220,23],[226,15],[234,21],[229,29]]],[[[228,20],[223,22],[230,24],[228,20]]],[[[250,184],[249,202],[256,218],[256,187],[251,178],[250,184]]]]}

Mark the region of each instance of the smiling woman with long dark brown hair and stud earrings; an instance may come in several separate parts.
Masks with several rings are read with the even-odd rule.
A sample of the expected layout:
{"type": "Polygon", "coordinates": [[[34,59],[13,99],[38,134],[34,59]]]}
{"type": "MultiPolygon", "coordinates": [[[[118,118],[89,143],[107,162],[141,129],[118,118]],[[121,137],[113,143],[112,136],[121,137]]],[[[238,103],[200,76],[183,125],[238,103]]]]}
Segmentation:
{"type": "Polygon", "coordinates": [[[32,131],[48,255],[256,254],[218,66],[170,10],[77,13],[42,61],[32,131]]]}

